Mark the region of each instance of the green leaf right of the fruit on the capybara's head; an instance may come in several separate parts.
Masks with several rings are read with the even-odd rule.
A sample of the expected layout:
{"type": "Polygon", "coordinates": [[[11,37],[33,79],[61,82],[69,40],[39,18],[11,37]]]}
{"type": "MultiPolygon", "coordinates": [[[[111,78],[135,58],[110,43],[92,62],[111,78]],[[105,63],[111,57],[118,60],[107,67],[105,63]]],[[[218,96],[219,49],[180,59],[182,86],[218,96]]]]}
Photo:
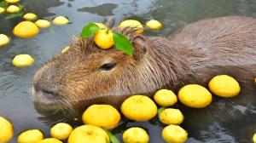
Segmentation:
{"type": "Polygon", "coordinates": [[[114,45],[117,49],[125,52],[126,54],[132,55],[133,54],[133,47],[131,42],[122,34],[113,33],[113,41],[114,45]]]}

